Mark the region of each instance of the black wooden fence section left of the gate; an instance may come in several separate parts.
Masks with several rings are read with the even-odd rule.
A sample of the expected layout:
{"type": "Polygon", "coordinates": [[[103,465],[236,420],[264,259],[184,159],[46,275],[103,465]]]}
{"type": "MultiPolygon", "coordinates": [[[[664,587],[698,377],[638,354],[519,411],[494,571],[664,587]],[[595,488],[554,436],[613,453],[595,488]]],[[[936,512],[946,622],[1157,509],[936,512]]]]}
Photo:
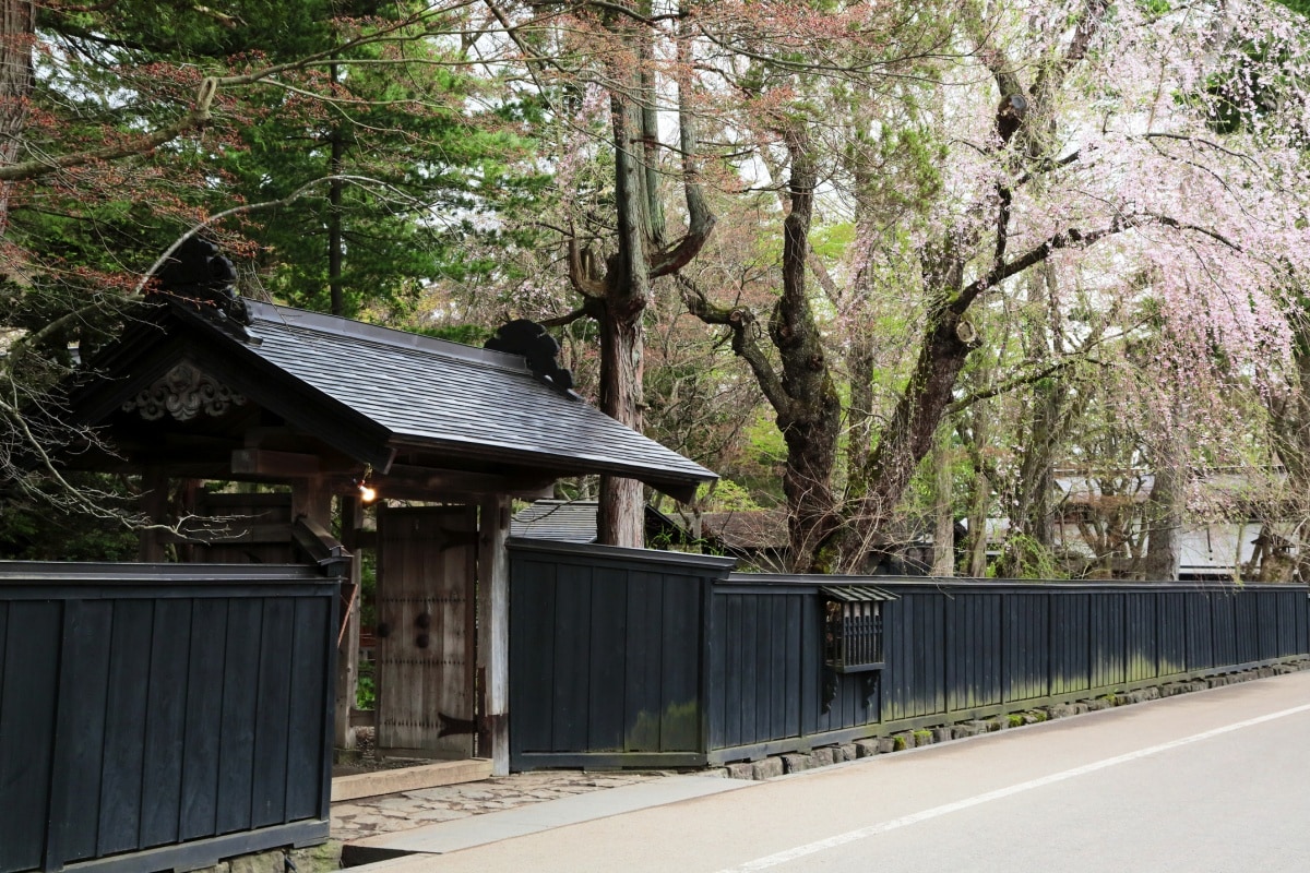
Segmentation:
{"type": "Polygon", "coordinates": [[[0,873],[328,838],[337,580],[0,561],[0,873]]]}

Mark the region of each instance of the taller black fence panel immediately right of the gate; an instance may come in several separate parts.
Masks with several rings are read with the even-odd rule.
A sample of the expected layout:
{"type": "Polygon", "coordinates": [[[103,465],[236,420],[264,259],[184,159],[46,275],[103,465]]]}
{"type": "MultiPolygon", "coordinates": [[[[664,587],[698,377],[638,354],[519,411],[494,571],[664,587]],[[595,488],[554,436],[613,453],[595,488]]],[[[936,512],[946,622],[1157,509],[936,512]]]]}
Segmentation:
{"type": "Polygon", "coordinates": [[[735,561],[540,541],[510,560],[511,768],[703,763],[703,616],[735,561]]]}

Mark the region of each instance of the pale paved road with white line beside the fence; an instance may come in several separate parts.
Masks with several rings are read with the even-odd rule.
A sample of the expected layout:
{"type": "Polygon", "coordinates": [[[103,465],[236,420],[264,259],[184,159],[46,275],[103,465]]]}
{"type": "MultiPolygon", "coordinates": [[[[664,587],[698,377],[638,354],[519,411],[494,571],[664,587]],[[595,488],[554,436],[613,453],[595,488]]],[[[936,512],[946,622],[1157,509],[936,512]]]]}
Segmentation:
{"type": "Polygon", "coordinates": [[[1310,673],[559,827],[393,873],[1310,870],[1310,673]]]}

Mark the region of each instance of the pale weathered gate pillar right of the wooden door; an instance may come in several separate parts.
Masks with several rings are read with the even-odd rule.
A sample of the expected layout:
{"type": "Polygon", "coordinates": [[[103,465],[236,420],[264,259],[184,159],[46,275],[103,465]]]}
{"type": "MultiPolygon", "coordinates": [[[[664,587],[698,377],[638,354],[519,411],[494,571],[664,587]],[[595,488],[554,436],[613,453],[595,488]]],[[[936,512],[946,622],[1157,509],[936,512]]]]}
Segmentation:
{"type": "Polygon", "coordinates": [[[479,505],[478,518],[478,754],[491,775],[510,772],[510,497],[479,505]]]}

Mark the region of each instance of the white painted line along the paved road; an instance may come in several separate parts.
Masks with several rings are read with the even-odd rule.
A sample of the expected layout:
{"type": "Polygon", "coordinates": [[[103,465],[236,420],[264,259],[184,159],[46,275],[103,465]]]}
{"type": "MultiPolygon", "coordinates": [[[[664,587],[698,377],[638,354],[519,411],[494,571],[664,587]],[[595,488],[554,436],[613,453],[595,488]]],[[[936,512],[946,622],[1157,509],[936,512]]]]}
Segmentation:
{"type": "Polygon", "coordinates": [[[1060,771],[1058,774],[1051,774],[1049,776],[1041,776],[1039,779],[1030,779],[1026,783],[1019,783],[1017,785],[1010,785],[1007,788],[998,788],[996,791],[984,792],[981,794],[975,794],[973,797],[965,797],[964,800],[958,800],[952,804],[943,804],[942,806],[925,809],[921,813],[901,815],[900,818],[892,818],[886,822],[870,825],[869,827],[861,827],[854,831],[846,831],[845,834],[837,834],[836,836],[815,840],[814,843],[796,846],[795,848],[789,848],[782,852],[776,852],[774,855],[757,857],[753,861],[747,861],[745,864],[740,864],[738,866],[724,868],[722,870],[718,870],[718,873],[748,873],[749,870],[764,870],[770,866],[778,866],[779,864],[794,861],[795,859],[804,857],[806,855],[814,855],[815,852],[823,852],[829,848],[836,848],[837,846],[845,846],[846,843],[854,843],[855,840],[867,839],[870,836],[878,836],[879,834],[895,831],[897,828],[907,827],[917,822],[926,822],[930,818],[939,818],[942,815],[948,815],[962,809],[968,809],[969,806],[979,806],[980,804],[986,804],[993,800],[1001,800],[1002,797],[1020,794],[1026,791],[1032,791],[1034,788],[1041,788],[1043,785],[1051,785],[1053,783],[1064,781],[1066,779],[1074,779],[1076,776],[1085,776],[1086,774],[1094,774],[1098,770],[1115,767],[1117,764],[1128,763],[1129,760],[1137,760],[1138,758],[1146,758],[1148,755],[1169,751],[1170,749],[1178,749],[1179,746],[1200,742],[1203,739],[1209,739],[1212,737],[1220,737],[1222,734],[1231,733],[1234,730],[1242,730],[1243,728],[1250,728],[1252,725],[1263,724],[1265,721],[1273,721],[1275,719],[1285,719],[1286,716],[1294,716],[1307,711],[1310,711],[1310,704],[1293,707],[1290,709],[1282,709],[1281,712],[1272,712],[1267,716],[1260,716],[1258,719],[1247,719],[1246,721],[1237,721],[1234,724],[1225,725],[1222,728],[1214,728],[1213,730],[1205,730],[1203,733],[1192,734],[1191,737],[1171,739],[1169,742],[1162,742],[1158,746],[1138,749],[1137,751],[1129,751],[1123,755],[1115,755],[1114,758],[1104,758],[1102,760],[1096,760],[1090,764],[1083,764],[1082,767],[1064,770],[1060,771]]]}

